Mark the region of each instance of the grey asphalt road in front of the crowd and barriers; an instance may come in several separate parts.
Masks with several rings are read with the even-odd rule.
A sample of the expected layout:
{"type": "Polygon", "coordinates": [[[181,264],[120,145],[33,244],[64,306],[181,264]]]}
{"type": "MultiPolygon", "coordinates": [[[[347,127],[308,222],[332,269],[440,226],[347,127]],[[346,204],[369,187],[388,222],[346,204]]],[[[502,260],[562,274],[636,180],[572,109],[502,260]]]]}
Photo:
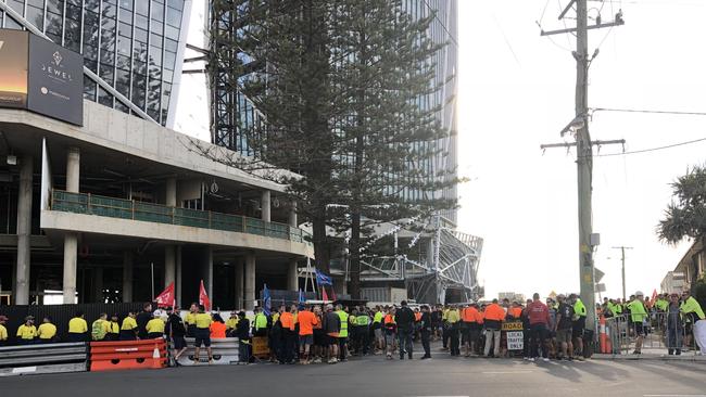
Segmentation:
{"type": "Polygon", "coordinates": [[[706,397],[706,364],[663,361],[533,363],[451,358],[338,364],[229,366],[24,375],[3,396],[638,396],[706,397]]]}

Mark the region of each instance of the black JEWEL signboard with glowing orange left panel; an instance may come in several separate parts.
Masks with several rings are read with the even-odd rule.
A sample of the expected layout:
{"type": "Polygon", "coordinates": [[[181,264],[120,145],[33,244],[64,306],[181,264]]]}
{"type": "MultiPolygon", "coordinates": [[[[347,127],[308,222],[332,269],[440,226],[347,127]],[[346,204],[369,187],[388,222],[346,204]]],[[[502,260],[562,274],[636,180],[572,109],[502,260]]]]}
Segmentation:
{"type": "Polygon", "coordinates": [[[28,31],[0,29],[0,106],[83,126],[83,55],[28,31]]]}

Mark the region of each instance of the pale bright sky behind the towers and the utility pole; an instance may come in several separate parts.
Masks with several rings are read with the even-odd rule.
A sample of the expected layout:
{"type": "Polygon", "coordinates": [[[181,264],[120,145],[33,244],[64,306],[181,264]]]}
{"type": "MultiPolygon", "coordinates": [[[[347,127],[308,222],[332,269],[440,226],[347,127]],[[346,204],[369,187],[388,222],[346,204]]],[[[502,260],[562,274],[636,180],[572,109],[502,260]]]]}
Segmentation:
{"type": "MultiPolygon", "coordinates": [[[[570,140],[559,131],[573,118],[576,39],[540,37],[538,26],[564,28],[557,16],[567,3],[458,0],[458,159],[469,179],[459,188],[458,229],[484,239],[479,279],[487,297],[579,289],[576,152],[540,150],[570,140]]],[[[204,0],[193,4],[188,42],[202,47],[204,0]]],[[[589,53],[600,48],[590,69],[591,107],[706,112],[706,1],[606,0],[589,8],[603,22],[621,9],[626,21],[590,33],[589,53]]],[[[209,140],[206,98],[204,76],[184,75],[175,129],[209,140]]],[[[706,138],[706,117],[596,112],[590,131],[594,140],[626,139],[630,152],[706,138]]],[[[600,149],[620,152],[620,145],[600,149]]],[[[705,153],[701,142],[595,158],[594,260],[606,274],[603,296],[621,295],[614,246],[633,247],[626,255],[628,294],[659,290],[682,258],[690,244],[665,245],[655,228],[670,182],[704,164],[705,153]]]]}

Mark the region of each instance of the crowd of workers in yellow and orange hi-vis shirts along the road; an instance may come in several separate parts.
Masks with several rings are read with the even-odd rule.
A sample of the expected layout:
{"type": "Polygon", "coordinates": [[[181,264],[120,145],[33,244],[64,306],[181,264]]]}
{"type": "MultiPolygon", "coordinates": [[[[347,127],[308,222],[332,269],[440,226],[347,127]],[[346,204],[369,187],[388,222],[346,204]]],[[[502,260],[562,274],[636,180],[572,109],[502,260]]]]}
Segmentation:
{"type": "MultiPolygon", "coordinates": [[[[701,305],[688,291],[681,295],[658,295],[652,300],[641,292],[628,302],[606,298],[597,310],[605,318],[625,317],[630,322],[635,336],[634,354],[641,353],[651,313],[664,312],[667,318],[670,355],[681,354],[682,345],[689,346],[695,324],[706,321],[701,305]]],[[[204,358],[211,362],[211,340],[226,337],[238,338],[240,360],[244,363],[252,360],[253,337],[265,338],[270,361],[281,364],[337,363],[350,356],[365,355],[412,359],[415,341],[421,343],[420,358],[428,359],[431,341],[439,340],[451,356],[461,356],[463,347],[465,357],[503,357],[508,354],[508,344],[501,344],[501,330],[503,323],[513,322],[521,324],[513,330],[522,333],[521,354],[526,360],[572,360],[583,359],[584,344],[593,340],[584,332],[585,318],[585,306],[576,294],[549,297],[545,302],[534,294],[525,304],[493,299],[487,304],[421,305],[414,309],[404,300],[399,306],[373,308],[293,304],[281,305],[272,312],[255,308],[250,318],[244,311],[234,311],[227,320],[197,304],[190,306],[184,318],[178,307],[153,311],[152,305],[146,304],[141,312],[129,312],[122,321],[117,315],[101,313],[90,328],[84,313],[76,312],[68,321],[66,342],[165,337],[172,342],[177,366],[187,348],[186,336],[194,341],[194,363],[200,362],[201,348],[205,348],[204,358]]],[[[8,342],[7,320],[0,316],[0,344],[8,342]]],[[[20,344],[58,342],[56,325],[47,316],[36,326],[29,316],[18,326],[16,337],[20,344]]]]}

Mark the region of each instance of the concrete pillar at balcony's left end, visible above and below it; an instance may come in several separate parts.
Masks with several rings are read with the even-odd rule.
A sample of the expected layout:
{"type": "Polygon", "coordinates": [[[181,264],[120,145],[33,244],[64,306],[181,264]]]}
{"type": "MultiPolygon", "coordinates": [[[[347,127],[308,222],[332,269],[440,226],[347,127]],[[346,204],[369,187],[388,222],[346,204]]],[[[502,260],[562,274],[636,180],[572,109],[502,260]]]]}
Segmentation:
{"type": "MultiPolygon", "coordinates": [[[[68,148],[66,155],[66,191],[78,193],[80,177],[80,152],[78,148],[68,148]]],[[[73,304],[76,298],[76,261],[78,259],[78,234],[64,235],[64,304],[73,304]]]]}

